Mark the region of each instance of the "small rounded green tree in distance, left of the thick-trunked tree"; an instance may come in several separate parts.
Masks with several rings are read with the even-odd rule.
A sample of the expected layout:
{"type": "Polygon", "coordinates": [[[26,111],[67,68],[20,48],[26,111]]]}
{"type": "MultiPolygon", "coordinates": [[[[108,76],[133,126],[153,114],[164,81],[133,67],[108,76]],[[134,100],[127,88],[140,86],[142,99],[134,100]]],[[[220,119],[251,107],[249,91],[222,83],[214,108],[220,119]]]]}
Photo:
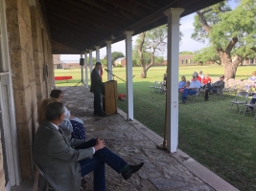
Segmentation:
{"type": "Polygon", "coordinates": [[[214,47],[206,47],[201,49],[195,54],[194,60],[199,63],[212,62],[221,65],[221,60],[219,55],[216,53],[214,47]]]}

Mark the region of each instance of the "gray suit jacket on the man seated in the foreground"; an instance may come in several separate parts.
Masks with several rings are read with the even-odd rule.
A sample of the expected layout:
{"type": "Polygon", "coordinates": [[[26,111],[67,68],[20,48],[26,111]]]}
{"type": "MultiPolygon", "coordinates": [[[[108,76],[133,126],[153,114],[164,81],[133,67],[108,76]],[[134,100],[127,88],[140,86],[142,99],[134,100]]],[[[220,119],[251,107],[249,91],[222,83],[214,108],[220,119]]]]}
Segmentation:
{"type": "Polygon", "coordinates": [[[83,140],[67,138],[48,121],[39,126],[35,134],[34,160],[54,190],[80,191],[79,160],[93,157],[92,148],[75,149],[83,142],[83,140]]]}

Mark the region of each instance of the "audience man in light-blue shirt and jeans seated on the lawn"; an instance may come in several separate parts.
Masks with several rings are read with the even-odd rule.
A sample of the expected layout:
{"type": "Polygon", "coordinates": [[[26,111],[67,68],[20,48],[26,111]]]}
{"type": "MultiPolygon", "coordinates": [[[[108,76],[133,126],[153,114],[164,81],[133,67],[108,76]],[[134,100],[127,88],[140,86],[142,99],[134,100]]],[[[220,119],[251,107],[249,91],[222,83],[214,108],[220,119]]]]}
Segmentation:
{"type": "Polygon", "coordinates": [[[190,86],[188,88],[184,88],[182,93],[182,103],[187,102],[188,95],[197,95],[199,88],[201,87],[201,83],[198,81],[197,74],[193,74],[193,78],[190,82],[190,86]]]}

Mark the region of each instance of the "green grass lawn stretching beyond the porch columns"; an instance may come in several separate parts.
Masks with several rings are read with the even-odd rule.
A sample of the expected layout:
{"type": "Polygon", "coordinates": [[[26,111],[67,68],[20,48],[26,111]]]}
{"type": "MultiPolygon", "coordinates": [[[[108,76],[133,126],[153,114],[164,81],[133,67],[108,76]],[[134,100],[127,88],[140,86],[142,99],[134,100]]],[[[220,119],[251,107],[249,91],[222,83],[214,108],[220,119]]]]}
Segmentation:
{"type": "MultiPolygon", "coordinates": [[[[210,77],[223,74],[221,66],[180,67],[179,76],[191,79],[194,71],[209,73],[210,77]]],[[[152,67],[148,77],[140,78],[141,68],[133,68],[134,118],[163,137],[165,96],[151,93],[155,80],[161,81],[165,67],[152,67]]],[[[246,78],[255,71],[255,66],[239,67],[237,78],[246,78]]],[[[58,82],[57,86],[75,85],[81,80],[80,70],[56,70],[58,75],[73,75],[69,83],[58,82]]],[[[113,74],[126,80],[124,68],[114,68],[113,74]]],[[[118,93],[126,93],[126,84],[118,81],[118,93]]],[[[104,74],[104,81],[106,74],[104,74]]],[[[232,99],[199,101],[179,104],[179,145],[182,151],[227,180],[240,190],[256,190],[256,119],[252,114],[244,117],[237,110],[228,112],[232,99]]],[[[127,111],[126,102],[118,107],[127,111]]]]}

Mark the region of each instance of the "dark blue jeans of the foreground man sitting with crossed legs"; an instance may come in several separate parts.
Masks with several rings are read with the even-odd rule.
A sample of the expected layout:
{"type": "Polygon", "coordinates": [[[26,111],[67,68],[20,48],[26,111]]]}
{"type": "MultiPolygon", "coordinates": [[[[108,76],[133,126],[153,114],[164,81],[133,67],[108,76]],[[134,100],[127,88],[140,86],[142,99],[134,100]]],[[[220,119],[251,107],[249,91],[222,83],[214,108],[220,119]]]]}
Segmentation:
{"type": "MultiPolygon", "coordinates": [[[[76,149],[93,147],[95,144],[96,139],[90,139],[89,141],[82,143],[76,149]]],[[[117,173],[121,173],[128,165],[128,162],[111,152],[106,147],[96,151],[92,159],[81,159],[79,162],[81,165],[81,177],[94,171],[95,191],[105,191],[105,163],[117,173]]]]}

